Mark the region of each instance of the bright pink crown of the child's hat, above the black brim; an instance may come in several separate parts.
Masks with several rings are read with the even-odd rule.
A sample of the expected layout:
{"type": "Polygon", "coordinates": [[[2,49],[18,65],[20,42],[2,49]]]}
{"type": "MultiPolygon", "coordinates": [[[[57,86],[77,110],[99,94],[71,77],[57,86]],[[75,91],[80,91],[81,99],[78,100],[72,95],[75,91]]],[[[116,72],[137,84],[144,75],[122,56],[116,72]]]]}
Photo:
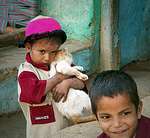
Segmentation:
{"type": "Polygon", "coordinates": [[[31,20],[25,28],[25,37],[33,34],[41,34],[61,30],[61,25],[54,18],[39,16],[31,20]]]}

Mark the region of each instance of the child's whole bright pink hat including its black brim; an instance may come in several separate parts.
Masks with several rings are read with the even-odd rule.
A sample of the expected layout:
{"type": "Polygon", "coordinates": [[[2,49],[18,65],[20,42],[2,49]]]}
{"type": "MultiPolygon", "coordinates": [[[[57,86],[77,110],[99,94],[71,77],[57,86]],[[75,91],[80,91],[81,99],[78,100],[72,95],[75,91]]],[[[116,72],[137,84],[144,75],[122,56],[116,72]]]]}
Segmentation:
{"type": "Polygon", "coordinates": [[[25,43],[30,39],[38,39],[49,36],[60,37],[62,43],[66,41],[66,33],[62,30],[61,25],[52,17],[37,16],[28,22],[25,28],[25,43]]]}

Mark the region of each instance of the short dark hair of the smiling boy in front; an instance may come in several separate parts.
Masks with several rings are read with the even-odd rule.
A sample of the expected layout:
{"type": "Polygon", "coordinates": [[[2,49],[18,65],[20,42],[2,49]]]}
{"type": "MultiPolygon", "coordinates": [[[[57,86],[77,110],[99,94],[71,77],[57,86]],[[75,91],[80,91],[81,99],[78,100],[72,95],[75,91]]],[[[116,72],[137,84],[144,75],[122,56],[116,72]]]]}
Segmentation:
{"type": "Polygon", "coordinates": [[[96,115],[97,101],[103,97],[114,97],[128,94],[136,110],[139,106],[137,85],[133,78],[127,73],[119,70],[108,70],[97,74],[90,88],[90,99],[92,111],[96,115]]]}

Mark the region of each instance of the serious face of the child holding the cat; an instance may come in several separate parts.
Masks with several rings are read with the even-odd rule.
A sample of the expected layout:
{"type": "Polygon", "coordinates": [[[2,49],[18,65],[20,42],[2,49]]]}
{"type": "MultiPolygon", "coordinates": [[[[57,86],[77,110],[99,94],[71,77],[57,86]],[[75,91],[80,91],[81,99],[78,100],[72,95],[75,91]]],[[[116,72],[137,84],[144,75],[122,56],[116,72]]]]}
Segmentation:
{"type": "Polygon", "coordinates": [[[47,39],[37,40],[32,46],[26,45],[26,51],[30,52],[31,59],[37,64],[50,64],[56,55],[56,52],[60,45],[56,42],[51,42],[47,39]]]}

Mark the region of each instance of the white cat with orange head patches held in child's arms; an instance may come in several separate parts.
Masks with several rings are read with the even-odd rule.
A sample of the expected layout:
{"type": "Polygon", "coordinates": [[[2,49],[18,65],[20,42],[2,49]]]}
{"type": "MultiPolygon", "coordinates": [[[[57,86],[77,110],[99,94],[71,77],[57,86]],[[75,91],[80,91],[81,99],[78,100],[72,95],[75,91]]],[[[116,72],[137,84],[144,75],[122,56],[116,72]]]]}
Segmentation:
{"type": "MultiPolygon", "coordinates": [[[[72,67],[72,62],[72,55],[66,49],[58,52],[55,61],[51,63],[50,77],[59,72],[65,75],[74,75],[84,81],[87,80],[88,76],[79,71],[83,70],[83,67],[72,67]]],[[[70,88],[67,100],[65,102],[61,100],[59,103],[55,102],[55,104],[61,114],[73,122],[79,120],[80,117],[92,114],[90,98],[83,90],[70,88]]]]}

